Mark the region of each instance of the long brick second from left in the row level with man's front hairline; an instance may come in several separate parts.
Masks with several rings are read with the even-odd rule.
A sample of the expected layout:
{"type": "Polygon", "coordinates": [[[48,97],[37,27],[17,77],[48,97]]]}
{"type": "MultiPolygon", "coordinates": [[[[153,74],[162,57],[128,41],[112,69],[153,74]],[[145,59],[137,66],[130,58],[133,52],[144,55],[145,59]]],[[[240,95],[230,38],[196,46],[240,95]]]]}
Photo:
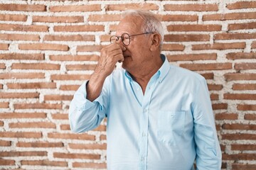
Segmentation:
{"type": "Polygon", "coordinates": [[[33,16],[34,23],[82,23],[82,16],[33,16]]]}

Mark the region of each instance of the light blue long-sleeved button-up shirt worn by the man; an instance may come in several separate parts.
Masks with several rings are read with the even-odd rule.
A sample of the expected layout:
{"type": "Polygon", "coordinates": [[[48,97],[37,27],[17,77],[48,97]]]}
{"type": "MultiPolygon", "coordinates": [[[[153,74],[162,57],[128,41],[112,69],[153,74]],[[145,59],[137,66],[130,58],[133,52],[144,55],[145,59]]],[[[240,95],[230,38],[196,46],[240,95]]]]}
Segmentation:
{"type": "Polygon", "coordinates": [[[95,101],[86,83],[70,103],[70,128],[85,132],[107,117],[107,169],[218,170],[221,151],[206,80],[200,74],[164,64],[145,94],[124,69],[105,80],[95,101]]]}

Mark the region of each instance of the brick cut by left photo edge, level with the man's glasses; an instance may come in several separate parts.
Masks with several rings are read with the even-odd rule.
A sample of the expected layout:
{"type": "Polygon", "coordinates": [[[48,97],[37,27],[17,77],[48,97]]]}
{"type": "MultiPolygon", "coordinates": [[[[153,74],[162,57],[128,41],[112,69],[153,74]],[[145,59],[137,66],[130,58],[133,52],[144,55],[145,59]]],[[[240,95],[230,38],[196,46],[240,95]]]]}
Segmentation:
{"type": "Polygon", "coordinates": [[[28,35],[28,34],[0,34],[0,40],[33,40],[39,41],[39,35],[28,35]]]}

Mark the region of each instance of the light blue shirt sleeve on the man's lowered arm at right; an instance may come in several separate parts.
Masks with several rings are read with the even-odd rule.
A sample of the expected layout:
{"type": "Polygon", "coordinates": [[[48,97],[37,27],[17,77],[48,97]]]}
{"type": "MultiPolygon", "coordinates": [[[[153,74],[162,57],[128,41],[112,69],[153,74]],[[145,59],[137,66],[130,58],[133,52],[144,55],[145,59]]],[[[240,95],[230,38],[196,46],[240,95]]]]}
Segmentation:
{"type": "Polygon", "coordinates": [[[221,150],[206,80],[201,80],[197,88],[193,109],[196,167],[198,170],[218,170],[221,150]]]}

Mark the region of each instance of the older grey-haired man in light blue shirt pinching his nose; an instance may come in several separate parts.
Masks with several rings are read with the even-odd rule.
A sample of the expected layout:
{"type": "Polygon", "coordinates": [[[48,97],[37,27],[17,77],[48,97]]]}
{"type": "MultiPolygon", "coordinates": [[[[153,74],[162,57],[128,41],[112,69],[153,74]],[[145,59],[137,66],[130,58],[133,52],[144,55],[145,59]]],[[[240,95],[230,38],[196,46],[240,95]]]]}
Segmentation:
{"type": "Polygon", "coordinates": [[[92,130],[107,117],[107,169],[189,170],[195,159],[197,169],[220,169],[206,80],[169,64],[163,33],[154,14],[124,13],[70,104],[71,130],[92,130]]]}

